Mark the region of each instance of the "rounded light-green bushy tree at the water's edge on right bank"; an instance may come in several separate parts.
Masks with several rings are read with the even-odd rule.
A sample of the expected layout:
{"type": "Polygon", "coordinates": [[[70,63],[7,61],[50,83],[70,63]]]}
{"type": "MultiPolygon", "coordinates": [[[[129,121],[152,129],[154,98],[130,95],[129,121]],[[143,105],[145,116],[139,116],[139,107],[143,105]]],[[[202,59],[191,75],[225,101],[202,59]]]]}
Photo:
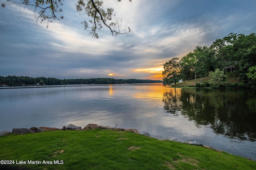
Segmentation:
{"type": "Polygon", "coordinates": [[[217,68],[214,72],[209,72],[209,77],[211,78],[208,80],[210,86],[214,88],[226,86],[228,76],[224,74],[224,71],[220,71],[219,68],[217,68]]]}

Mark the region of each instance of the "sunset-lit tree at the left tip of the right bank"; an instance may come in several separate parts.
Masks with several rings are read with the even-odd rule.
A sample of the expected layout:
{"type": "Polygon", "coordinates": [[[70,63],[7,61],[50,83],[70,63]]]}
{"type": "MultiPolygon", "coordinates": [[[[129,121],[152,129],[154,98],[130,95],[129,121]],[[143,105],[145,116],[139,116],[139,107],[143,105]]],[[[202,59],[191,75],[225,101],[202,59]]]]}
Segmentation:
{"type": "Polygon", "coordinates": [[[164,64],[164,71],[162,72],[164,83],[174,80],[174,84],[176,84],[176,80],[180,77],[180,62],[178,61],[179,59],[175,57],[164,64]]]}

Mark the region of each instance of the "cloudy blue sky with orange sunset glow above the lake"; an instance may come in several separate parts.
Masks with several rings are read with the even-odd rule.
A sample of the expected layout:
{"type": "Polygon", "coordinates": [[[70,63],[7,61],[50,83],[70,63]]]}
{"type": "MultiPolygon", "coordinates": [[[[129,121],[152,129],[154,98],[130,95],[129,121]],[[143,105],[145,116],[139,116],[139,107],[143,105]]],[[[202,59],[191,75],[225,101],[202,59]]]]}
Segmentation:
{"type": "Polygon", "coordinates": [[[170,59],[229,33],[256,32],[256,0],[104,0],[132,37],[104,27],[94,39],[76,2],[65,0],[64,19],[49,24],[20,6],[1,7],[0,76],[162,80],[170,59]]]}

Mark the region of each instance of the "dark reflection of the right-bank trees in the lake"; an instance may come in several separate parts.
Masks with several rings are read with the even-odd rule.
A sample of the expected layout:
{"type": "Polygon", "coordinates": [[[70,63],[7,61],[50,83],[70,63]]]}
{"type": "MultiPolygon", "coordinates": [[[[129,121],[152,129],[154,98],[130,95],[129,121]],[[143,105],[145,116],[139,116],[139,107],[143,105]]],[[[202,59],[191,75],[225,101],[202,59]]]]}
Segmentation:
{"type": "Polygon", "coordinates": [[[177,89],[164,94],[164,109],[181,111],[198,125],[210,125],[217,134],[256,141],[255,91],[233,89],[177,89]]]}

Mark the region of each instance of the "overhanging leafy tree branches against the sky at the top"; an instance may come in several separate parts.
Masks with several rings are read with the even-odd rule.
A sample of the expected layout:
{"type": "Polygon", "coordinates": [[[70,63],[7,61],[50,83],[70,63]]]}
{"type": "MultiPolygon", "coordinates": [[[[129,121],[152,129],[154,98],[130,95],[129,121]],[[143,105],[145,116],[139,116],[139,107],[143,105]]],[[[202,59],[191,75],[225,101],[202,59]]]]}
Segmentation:
{"type": "MultiPolygon", "coordinates": [[[[4,8],[6,5],[19,5],[24,10],[32,10],[36,22],[41,20],[40,23],[42,23],[46,20],[49,23],[53,20],[62,20],[64,18],[64,16],[61,15],[63,1],[64,0],[6,0],[6,2],[2,4],[2,7],[4,8]]],[[[121,2],[122,0],[117,1],[121,2]]],[[[132,2],[132,0],[129,1],[132,2]]],[[[103,26],[110,29],[113,36],[119,34],[130,36],[129,33],[132,32],[130,26],[121,27],[122,20],[116,18],[113,8],[104,9],[102,0],[78,0],[76,10],[92,18],[88,21],[84,20],[81,23],[84,25],[86,34],[97,39],[99,38],[98,33],[101,32],[103,26]]]]}

